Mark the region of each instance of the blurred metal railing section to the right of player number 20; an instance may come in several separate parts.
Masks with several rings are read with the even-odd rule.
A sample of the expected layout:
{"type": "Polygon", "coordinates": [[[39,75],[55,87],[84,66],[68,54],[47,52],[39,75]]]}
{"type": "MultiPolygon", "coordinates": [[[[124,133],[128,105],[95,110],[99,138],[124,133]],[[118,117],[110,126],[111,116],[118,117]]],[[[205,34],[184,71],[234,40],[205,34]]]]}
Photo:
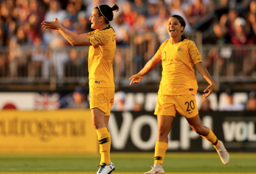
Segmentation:
{"type": "MultiPolygon", "coordinates": [[[[256,81],[256,45],[235,47],[234,45],[204,45],[202,60],[215,81],[256,81]]],[[[196,73],[200,81],[199,73],[196,73]]]]}

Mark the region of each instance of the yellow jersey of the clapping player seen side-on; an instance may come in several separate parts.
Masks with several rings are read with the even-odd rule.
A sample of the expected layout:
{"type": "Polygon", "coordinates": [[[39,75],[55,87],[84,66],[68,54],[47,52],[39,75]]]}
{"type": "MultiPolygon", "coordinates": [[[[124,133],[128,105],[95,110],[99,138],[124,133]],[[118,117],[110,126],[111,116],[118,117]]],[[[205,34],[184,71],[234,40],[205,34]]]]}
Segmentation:
{"type": "Polygon", "coordinates": [[[89,32],[87,38],[91,43],[88,57],[89,87],[114,88],[115,31],[109,25],[102,31],[97,29],[89,32]]]}

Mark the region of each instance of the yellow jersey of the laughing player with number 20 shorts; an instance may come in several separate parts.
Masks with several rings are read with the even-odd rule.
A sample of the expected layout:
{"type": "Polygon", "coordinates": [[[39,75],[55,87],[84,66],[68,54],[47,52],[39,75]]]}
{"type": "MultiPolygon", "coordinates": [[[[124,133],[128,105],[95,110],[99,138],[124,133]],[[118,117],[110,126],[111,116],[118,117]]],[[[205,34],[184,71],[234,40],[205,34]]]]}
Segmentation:
{"type": "Polygon", "coordinates": [[[162,80],[159,94],[187,95],[196,94],[198,85],[193,64],[202,62],[196,44],[188,39],[182,39],[171,44],[167,39],[161,44],[155,57],[162,60],[162,80]]]}

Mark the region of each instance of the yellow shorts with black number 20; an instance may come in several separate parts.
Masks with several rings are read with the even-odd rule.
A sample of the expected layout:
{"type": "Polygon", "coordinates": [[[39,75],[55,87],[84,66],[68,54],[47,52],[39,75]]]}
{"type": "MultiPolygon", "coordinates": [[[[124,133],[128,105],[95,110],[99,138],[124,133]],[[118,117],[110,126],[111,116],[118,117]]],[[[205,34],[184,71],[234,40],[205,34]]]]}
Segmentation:
{"type": "Polygon", "coordinates": [[[167,96],[159,94],[154,114],[175,117],[176,112],[186,118],[195,117],[198,114],[195,95],[167,96]]]}

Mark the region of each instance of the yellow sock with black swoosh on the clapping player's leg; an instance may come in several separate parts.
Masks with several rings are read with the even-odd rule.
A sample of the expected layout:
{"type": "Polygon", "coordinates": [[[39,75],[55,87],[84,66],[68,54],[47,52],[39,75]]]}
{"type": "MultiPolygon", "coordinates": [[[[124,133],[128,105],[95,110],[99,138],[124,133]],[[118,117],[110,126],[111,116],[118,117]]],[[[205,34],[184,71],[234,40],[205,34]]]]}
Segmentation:
{"type": "Polygon", "coordinates": [[[110,138],[106,127],[97,130],[102,163],[110,165],[110,138]]]}

